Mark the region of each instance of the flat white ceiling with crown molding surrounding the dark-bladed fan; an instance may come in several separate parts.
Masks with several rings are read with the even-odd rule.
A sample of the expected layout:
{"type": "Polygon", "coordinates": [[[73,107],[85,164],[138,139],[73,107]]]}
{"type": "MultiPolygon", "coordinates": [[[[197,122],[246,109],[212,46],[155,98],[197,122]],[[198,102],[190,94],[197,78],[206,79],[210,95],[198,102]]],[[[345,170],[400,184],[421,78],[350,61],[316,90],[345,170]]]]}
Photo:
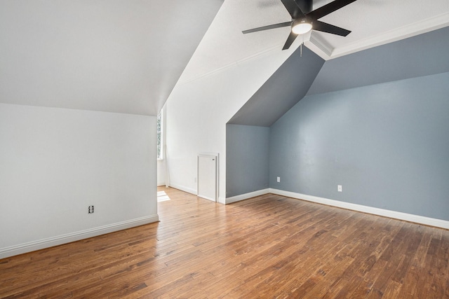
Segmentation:
{"type": "MultiPolygon", "coordinates": [[[[315,0],[314,9],[332,2],[315,0]]],[[[225,0],[217,17],[196,49],[180,78],[188,83],[216,71],[281,51],[290,27],[242,34],[245,29],[290,20],[281,0],[225,0]]],[[[323,22],[351,30],[346,37],[312,31],[297,37],[286,55],[301,41],[324,60],[380,46],[449,25],[448,0],[358,0],[330,15],[323,22]]]]}

